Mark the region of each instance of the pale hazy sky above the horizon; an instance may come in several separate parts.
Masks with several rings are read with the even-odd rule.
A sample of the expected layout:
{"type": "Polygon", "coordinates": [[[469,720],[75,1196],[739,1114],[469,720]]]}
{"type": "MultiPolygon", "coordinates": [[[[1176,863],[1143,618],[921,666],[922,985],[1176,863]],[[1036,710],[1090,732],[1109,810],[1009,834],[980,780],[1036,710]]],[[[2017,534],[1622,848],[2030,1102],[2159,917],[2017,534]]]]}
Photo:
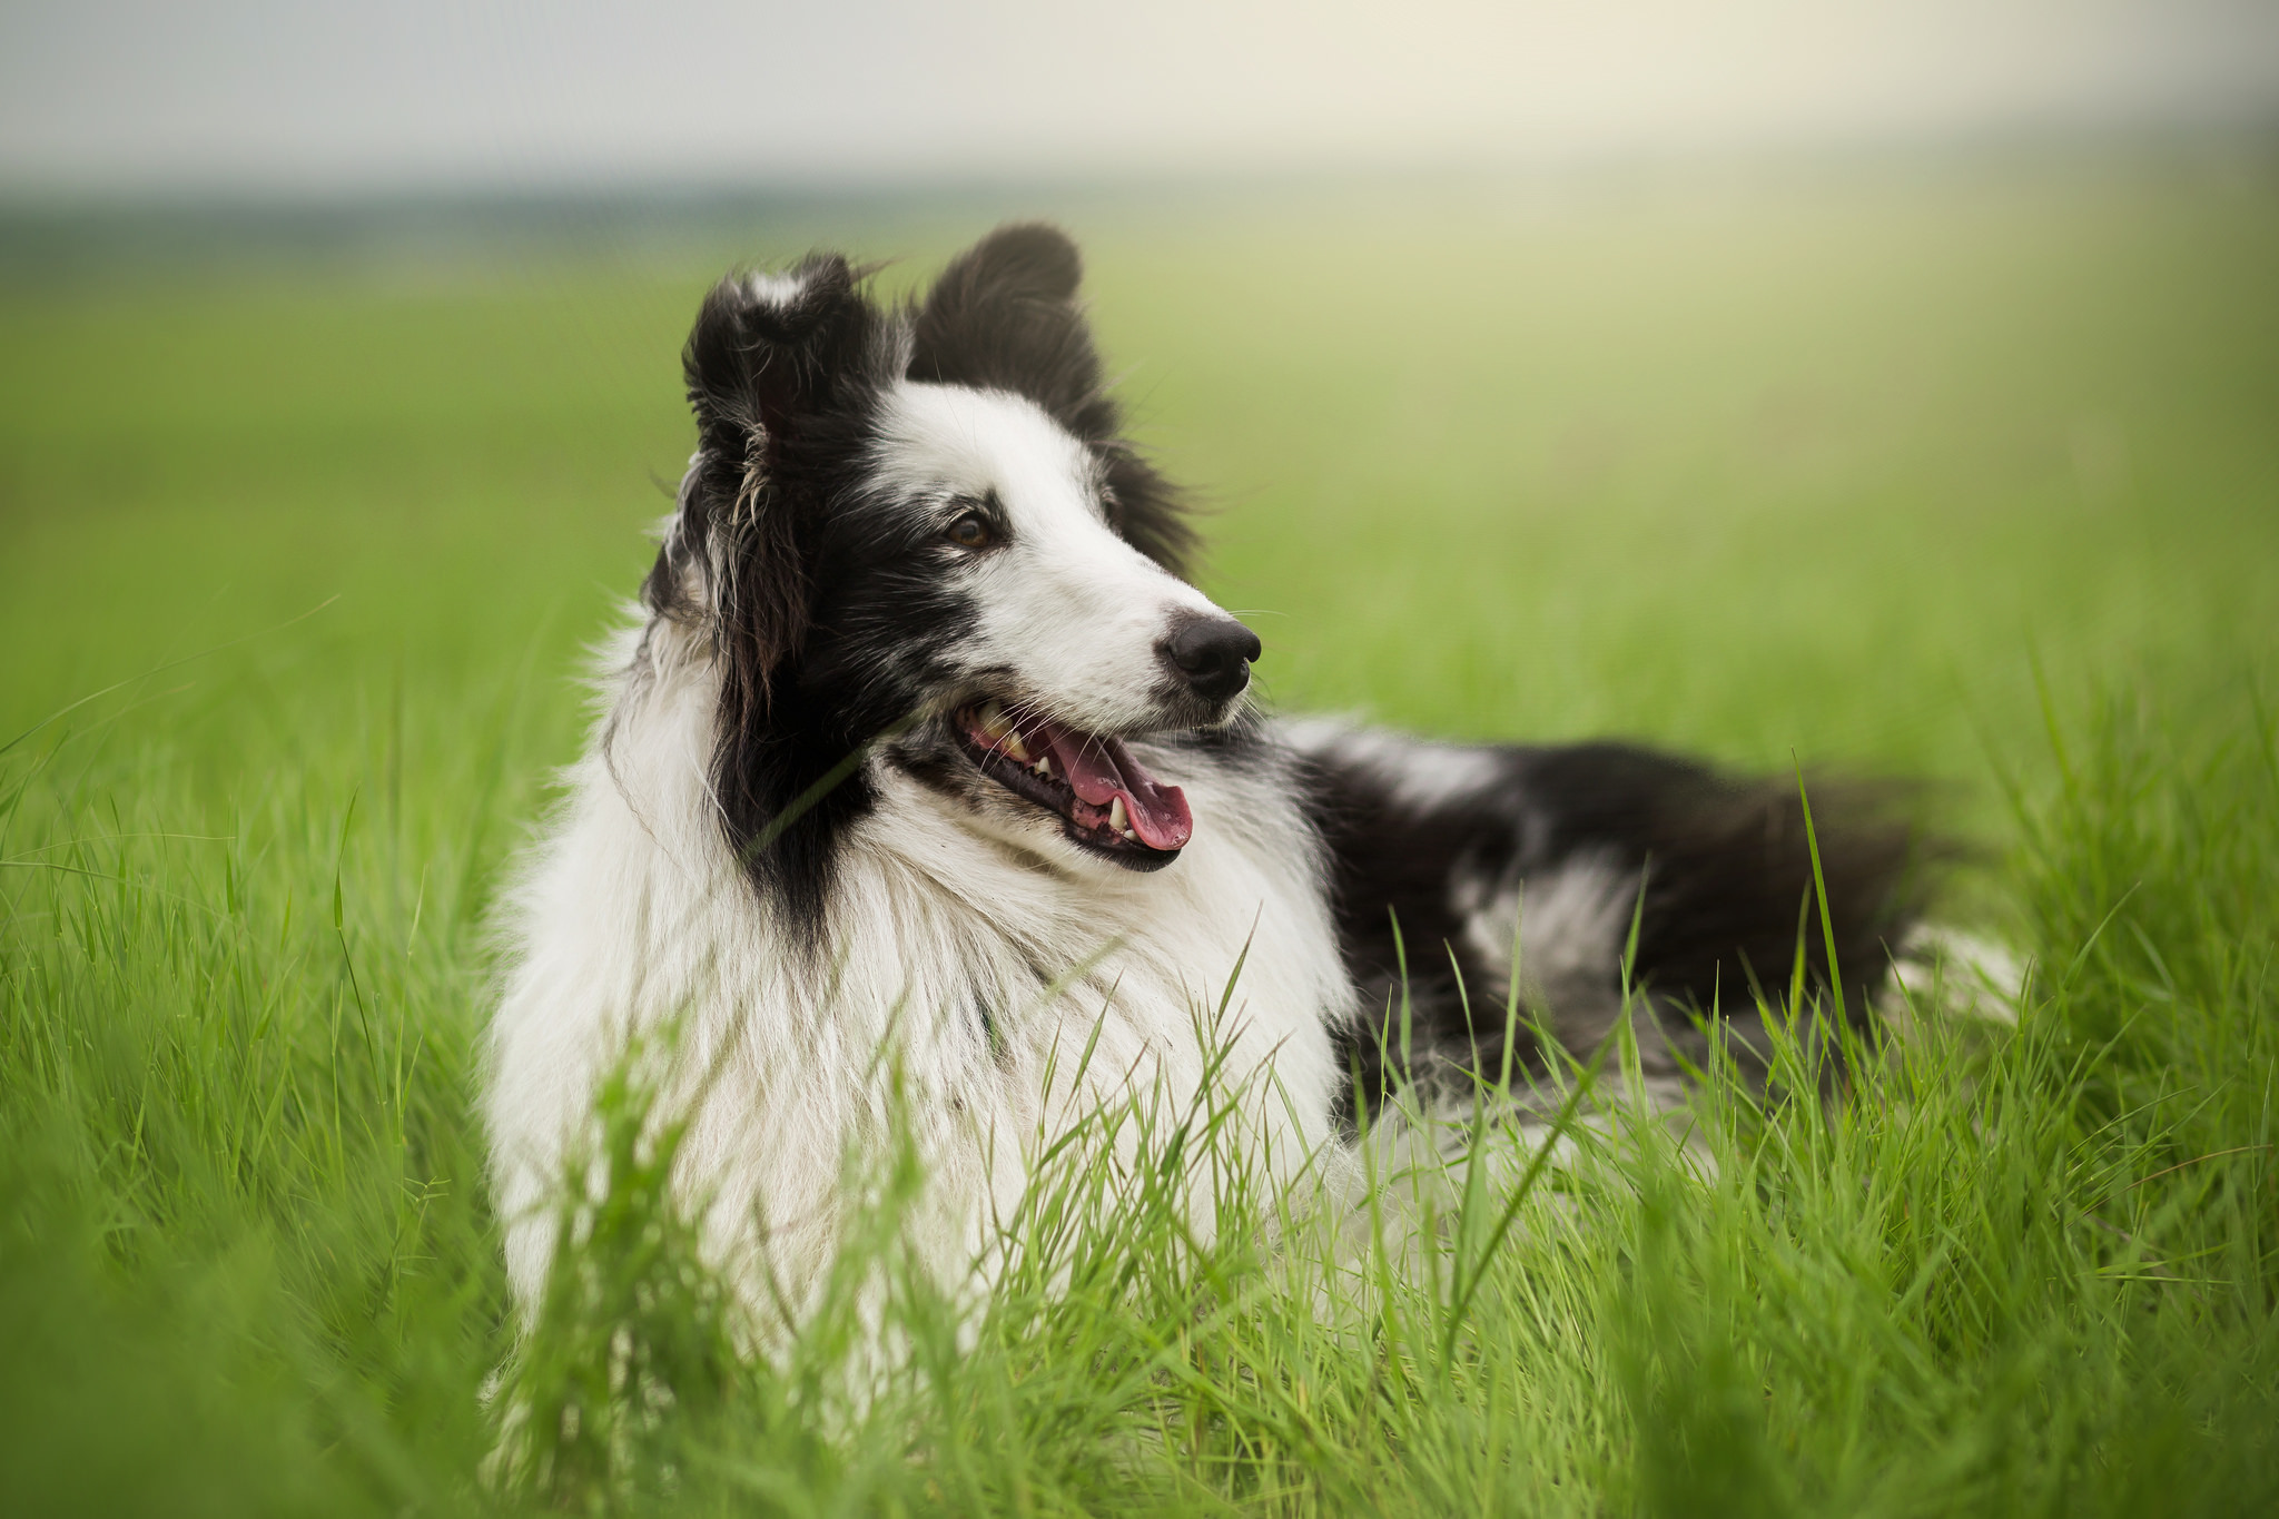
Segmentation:
{"type": "Polygon", "coordinates": [[[2279,123],[2279,0],[0,0],[0,194],[1338,171],[2279,123]]]}

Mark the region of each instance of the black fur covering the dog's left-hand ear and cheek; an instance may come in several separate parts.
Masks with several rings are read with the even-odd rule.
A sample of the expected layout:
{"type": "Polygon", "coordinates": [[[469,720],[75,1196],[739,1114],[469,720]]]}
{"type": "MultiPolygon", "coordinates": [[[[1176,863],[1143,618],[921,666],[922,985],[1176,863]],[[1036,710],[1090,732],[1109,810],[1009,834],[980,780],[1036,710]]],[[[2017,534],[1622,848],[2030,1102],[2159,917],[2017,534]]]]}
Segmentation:
{"type": "Polygon", "coordinates": [[[798,294],[773,301],[732,276],[697,312],[681,353],[697,458],[645,594],[702,613],[722,667],[722,827],[754,881],[820,931],[836,834],[873,802],[859,770],[825,781],[916,704],[928,642],[959,608],[912,563],[923,524],[868,496],[893,326],[843,257],[811,255],[789,280],[798,294]],[[843,679],[852,644],[882,633],[889,679],[843,679]]]}

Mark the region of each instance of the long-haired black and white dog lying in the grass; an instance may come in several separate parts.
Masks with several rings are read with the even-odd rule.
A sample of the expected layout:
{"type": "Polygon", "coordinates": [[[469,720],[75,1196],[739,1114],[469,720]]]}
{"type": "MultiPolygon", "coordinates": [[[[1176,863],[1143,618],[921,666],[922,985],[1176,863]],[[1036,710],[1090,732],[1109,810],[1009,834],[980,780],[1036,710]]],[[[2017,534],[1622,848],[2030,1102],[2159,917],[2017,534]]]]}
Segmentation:
{"type": "MultiPolygon", "coordinates": [[[[798,1287],[896,1111],[955,1266],[1037,1139],[1137,1084],[1249,1082],[1258,1152],[1294,1171],[1356,1102],[1497,1054],[1513,977],[1584,1052],[1629,947],[1650,1075],[1689,1013],[1787,984],[1794,786],[1253,711],[1258,638],[1183,578],[1076,289],[1060,232],[1010,225],[912,305],[834,255],[706,296],[697,453],[506,906],[485,1116],[524,1300],[645,1029],[704,1073],[677,1180],[711,1248],[798,1287]],[[1408,1073],[1383,1054],[1404,959],[1408,1073]],[[1465,997],[1497,1011],[1472,1027],[1465,997]]],[[[1816,822],[1862,1009],[1914,925],[1912,840],[1832,799],[1816,822]]],[[[1825,977],[1816,918],[1803,943],[1825,977]]]]}

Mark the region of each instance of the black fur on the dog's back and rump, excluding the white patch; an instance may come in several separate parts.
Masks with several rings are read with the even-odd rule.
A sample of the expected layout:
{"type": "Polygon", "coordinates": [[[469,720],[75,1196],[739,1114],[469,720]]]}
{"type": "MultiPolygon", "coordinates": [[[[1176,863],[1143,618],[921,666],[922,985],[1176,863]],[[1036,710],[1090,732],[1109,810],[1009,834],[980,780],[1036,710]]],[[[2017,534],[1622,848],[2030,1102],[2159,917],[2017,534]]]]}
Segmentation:
{"type": "MultiPolygon", "coordinates": [[[[1404,804],[1370,763],[1310,763],[1340,941],[1370,1009],[1345,1048],[1361,1100],[1379,1100],[1388,1059],[1399,1061],[1402,961],[1418,1064],[1502,1057],[1506,977],[1463,934],[1468,884],[1545,879],[1582,859],[1634,875],[1643,902],[1632,986],[1664,1027],[1684,1029],[1702,1011],[1753,1020],[1757,988],[1775,1002],[1787,991],[1800,941],[1810,986],[1830,986],[1821,920],[1807,913],[1812,849],[1794,781],[1734,779],[1614,742],[1490,754],[1493,783],[1431,806],[1404,804]]],[[[1823,781],[1810,795],[1846,1011],[1867,1027],[1942,847],[1896,820],[1889,786],[1823,781]]],[[[1620,1009],[1620,968],[1561,993],[1554,1032],[1588,1054],[1620,1009]]],[[[1543,1052],[1513,1054],[1527,1068],[1543,1052]]]]}

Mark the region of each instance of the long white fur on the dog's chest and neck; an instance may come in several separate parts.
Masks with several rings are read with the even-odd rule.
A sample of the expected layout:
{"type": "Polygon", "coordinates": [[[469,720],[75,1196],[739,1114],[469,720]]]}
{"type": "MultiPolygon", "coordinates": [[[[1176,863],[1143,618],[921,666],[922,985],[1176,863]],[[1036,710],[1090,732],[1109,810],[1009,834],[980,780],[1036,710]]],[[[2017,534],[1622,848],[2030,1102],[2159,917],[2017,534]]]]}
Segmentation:
{"type": "MultiPolygon", "coordinates": [[[[907,1132],[928,1237],[955,1273],[1010,1216],[1037,1146],[1101,1102],[1176,1120],[1242,1084],[1249,1139],[1294,1171],[1333,1136],[1331,1027],[1351,986],[1288,758],[1165,752],[1196,838],[1176,870],[1071,875],[871,758],[820,954],[770,913],[711,802],[718,676],[652,624],[618,674],[570,795],[508,902],[517,959],[492,1029],[488,1120],[508,1266],[536,1300],[593,1095],[634,1038],[691,1102],[679,1157],[711,1250],[800,1287],[830,1259],[846,1166],[907,1132]],[[636,656],[638,654],[638,656],[636,656]],[[1240,966],[1240,975],[1237,975],[1240,966]],[[900,1093],[900,1095],[896,1095],[900,1093]]],[[[1208,1221],[1203,1221],[1208,1227],[1208,1221]]],[[[741,1275],[741,1273],[738,1273],[741,1275]]]]}

